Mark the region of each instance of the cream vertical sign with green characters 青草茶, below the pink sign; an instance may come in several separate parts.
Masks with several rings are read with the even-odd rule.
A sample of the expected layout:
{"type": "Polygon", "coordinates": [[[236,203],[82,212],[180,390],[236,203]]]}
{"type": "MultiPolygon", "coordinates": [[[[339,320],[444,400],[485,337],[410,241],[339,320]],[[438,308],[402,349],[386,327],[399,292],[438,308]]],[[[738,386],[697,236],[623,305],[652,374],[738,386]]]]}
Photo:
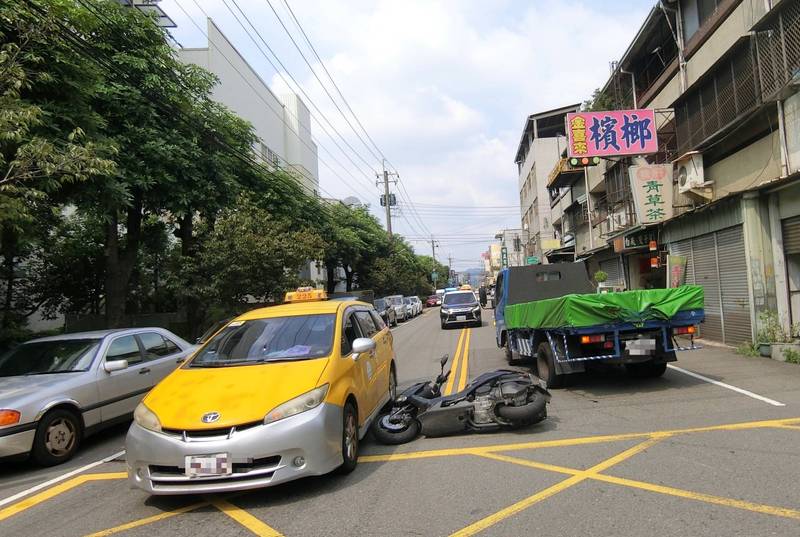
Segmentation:
{"type": "Polygon", "coordinates": [[[639,223],[657,224],[672,218],[672,164],[631,166],[628,173],[639,223]]]}

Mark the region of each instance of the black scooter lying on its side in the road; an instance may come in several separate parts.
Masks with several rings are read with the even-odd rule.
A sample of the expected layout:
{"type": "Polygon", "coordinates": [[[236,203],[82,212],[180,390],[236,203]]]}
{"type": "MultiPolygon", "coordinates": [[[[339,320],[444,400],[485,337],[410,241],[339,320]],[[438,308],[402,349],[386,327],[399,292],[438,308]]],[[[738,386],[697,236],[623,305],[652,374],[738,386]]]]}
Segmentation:
{"type": "Polygon", "coordinates": [[[550,392],[538,377],[521,371],[498,369],[483,373],[464,390],[442,396],[451,371],[433,382],[419,382],[390,403],[375,420],[372,434],[383,444],[403,444],[419,434],[444,436],[463,431],[492,431],[532,425],[547,417],[550,392]]]}

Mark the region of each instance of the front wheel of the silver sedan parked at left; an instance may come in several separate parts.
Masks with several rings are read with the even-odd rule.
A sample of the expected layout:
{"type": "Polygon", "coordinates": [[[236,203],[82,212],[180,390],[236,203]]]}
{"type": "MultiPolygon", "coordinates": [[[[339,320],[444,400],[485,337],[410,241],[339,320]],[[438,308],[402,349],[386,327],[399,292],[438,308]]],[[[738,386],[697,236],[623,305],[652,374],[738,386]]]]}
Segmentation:
{"type": "Polygon", "coordinates": [[[31,457],[41,466],[55,466],[72,458],[81,441],[78,417],[63,409],[45,414],[36,428],[31,457]]]}

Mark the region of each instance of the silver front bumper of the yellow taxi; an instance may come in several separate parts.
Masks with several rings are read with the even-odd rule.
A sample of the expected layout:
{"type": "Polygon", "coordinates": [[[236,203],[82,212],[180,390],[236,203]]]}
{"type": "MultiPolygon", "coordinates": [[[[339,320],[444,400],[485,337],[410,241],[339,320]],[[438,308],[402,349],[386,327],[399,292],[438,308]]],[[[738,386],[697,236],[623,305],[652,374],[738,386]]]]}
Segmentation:
{"type": "Polygon", "coordinates": [[[325,404],[222,436],[157,433],[135,422],[126,438],[128,479],[150,494],[247,490],[326,474],[343,462],[342,407],[325,404]],[[188,455],[228,454],[233,472],[186,475],[188,455]]]}

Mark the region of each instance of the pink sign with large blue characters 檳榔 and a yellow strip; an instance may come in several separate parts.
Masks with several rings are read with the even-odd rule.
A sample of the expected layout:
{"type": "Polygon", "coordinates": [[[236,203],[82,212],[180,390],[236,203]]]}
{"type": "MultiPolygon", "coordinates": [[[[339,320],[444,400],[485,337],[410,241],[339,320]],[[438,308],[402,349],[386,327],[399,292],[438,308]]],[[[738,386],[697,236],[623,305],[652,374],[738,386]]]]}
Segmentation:
{"type": "Polygon", "coordinates": [[[650,108],[567,114],[567,153],[570,157],[657,152],[655,111],[650,108]]]}

